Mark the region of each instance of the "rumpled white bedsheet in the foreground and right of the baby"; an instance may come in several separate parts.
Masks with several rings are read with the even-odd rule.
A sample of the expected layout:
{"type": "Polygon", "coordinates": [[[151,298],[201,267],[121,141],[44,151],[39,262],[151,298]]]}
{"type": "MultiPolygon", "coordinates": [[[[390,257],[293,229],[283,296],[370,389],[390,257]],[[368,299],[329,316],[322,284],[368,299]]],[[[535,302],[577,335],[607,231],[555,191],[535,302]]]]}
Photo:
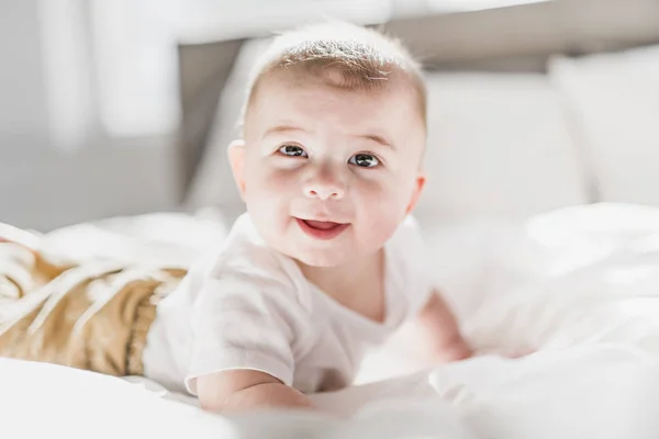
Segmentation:
{"type": "MultiPolygon", "coordinates": [[[[146,380],[0,360],[0,413],[11,414],[1,427],[122,438],[659,437],[659,211],[602,204],[460,229],[426,230],[438,270],[459,268],[440,278],[479,357],[312,395],[325,415],[232,418],[146,380]],[[445,246],[460,241],[471,245],[445,246]],[[499,356],[527,348],[538,351],[499,356]]],[[[405,365],[377,352],[362,381],[405,365]]]]}

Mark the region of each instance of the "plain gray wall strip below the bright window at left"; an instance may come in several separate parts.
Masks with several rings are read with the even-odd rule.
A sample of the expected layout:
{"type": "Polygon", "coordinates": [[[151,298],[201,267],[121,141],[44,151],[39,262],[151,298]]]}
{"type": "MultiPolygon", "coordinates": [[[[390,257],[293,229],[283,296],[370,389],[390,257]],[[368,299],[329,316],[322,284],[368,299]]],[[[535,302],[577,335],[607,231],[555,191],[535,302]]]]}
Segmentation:
{"type": "Polygon", "coordinates": [[[49,230],[178,205],[168,139],[98,140],[74,154],[25,144],[0,149],[0,222],[49,230]]]}

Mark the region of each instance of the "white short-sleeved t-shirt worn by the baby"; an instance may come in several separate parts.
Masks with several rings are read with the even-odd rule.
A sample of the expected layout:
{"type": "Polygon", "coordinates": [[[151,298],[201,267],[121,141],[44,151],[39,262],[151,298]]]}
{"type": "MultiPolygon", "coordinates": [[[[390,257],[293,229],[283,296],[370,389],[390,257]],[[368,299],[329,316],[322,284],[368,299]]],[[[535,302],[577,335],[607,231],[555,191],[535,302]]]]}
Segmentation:
{"type": "Polygon", "coordinates": [[[427,302],[418,226],[407,217],[384,245],[386,319],[376,323],[340,305],[268,248],[248,214],[219,254],[194,264],[158,304],[147,337],[145,375],[196,395],[196,379],[248,369],[303,393],[349,385],[368,349],[382,345],[427,302]]]}

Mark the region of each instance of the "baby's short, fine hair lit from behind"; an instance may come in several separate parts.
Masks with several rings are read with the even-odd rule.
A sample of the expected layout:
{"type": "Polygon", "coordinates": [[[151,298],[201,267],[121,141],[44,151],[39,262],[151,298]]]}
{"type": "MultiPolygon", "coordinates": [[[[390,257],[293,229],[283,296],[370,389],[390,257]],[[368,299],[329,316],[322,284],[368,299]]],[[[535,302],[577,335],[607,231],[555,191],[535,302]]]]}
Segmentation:
{"type": "Polygon", "coordinates": [[[416,93],[425,125],[426,89],[421,66],[398,40],[381,32],[344,22],[326,22],[278,36],[253,72],[243,121],[261,80],[281,69],[302,69],[343,90],[372,90],[394,76],[400,77],[416,93]],[[339,75],[326,75],[327,71],[339,75]]]}

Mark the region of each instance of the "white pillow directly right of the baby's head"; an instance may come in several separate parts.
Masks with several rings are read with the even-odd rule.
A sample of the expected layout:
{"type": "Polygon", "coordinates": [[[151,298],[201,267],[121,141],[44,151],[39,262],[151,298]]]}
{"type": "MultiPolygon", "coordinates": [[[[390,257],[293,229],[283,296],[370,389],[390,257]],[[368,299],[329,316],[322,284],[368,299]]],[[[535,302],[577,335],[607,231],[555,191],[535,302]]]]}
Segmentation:
{"type": "Polygon", "coordinates": [[[428,74],[422,224],[587,203],[559,97],[540,74],[428,74]]]}

